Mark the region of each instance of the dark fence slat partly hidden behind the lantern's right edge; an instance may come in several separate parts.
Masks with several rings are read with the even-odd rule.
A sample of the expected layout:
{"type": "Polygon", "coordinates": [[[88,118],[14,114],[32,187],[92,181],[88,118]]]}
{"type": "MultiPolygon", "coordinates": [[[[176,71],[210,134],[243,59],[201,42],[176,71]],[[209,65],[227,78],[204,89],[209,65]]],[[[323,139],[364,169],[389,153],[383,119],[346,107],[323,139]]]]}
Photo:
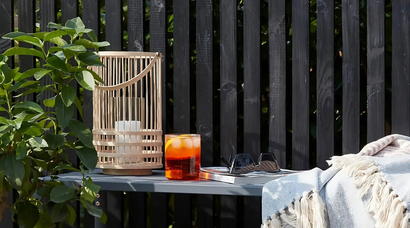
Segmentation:
{"type": "MultiPolygon", "coordinates": [[[[165,27],[166,11],[165,0],[150,1],[150,51],[162,53],[162,69],[161,69],[161,94],[162,94],[162,132],[166,134],[166,83],[165,83],[165,67],[166,67],[166,27],[165,27]]],[[[164,137],[162,138],[164,140],[164,137]]],[[[164,149],[162,150],[164,151],[164,149]]],[[[164,158],[162,159],[164,161],[164,158]]],[[[165,193],[151,193],[150,206],[151,217],[161,218],[152,219],[152,227],[166,228],[167,225],[167,199],[165,193]]]]}

